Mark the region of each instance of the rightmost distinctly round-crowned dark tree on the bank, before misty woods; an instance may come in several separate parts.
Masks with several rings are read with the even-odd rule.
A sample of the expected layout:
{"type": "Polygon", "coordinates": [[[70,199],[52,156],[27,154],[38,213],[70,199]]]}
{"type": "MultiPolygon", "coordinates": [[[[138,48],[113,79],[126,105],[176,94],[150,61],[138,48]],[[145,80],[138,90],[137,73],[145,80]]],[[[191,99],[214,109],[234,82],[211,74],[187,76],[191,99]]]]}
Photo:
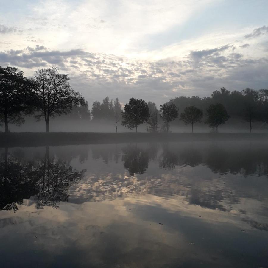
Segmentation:
{"type": "Polygon", "coordinates": [[[218,132],[219,125],[225,124],[230,118],[225,107],[221,103],[211,104],[207,109],[207,120],[205,121],[210,127],[215,128],[218,132]]]}

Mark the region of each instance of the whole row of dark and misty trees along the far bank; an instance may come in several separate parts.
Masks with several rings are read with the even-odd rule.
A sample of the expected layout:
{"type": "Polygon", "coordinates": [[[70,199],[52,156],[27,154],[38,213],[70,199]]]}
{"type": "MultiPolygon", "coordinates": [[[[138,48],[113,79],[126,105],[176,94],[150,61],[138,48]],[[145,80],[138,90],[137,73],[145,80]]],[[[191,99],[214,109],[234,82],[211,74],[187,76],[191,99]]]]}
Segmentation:
{"type": "Polygon", "coordinates": [[[24,117],[33,115],[43,119],[46,132],[49,132],[51,118],[66,114],[69,119],[85,121],[114,122],[130,130],[138,131],[140,124],[146,124],[147,132],[169,132],[170,123],[175,119],[193,126],[203,120],[212,129],[224,124],[230,117],[241,118],[249,122],[250,132],[253,121],[268,124],[268,89],[254,90],[246,88],[230,92],[225,88],[216,90],[211,97],[177,97],[160,105],[158,110],[154,102],[131,98],[122,105],[119,99],[109,99],[102,103],[94,101],[91,111],[88,102],[74,91],[68,74],[60,74],[58,68],[38,69],[35,77],[27,79],[16,67],[0,66],[0,122],[5,132],[8,124],[20,125],[24,117]]]}

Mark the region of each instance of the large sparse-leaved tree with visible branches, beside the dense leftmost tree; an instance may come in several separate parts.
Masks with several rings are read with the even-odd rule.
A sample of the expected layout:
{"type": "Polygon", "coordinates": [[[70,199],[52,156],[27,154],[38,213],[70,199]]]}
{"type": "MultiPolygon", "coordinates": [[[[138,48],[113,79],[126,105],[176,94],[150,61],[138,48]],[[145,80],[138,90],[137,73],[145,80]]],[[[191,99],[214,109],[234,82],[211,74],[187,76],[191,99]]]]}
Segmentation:
{"type": "Polygon", "coordinates": [[[71,88],[68,74],[60,74],[58,68],[38,69],[34,80],[36,107],[39,112],[35,117],[38,120],[45,118],[46,132],[49,132],[51,117],[69,113],[73,105],[86,105],[81,94],[71,88]]]}

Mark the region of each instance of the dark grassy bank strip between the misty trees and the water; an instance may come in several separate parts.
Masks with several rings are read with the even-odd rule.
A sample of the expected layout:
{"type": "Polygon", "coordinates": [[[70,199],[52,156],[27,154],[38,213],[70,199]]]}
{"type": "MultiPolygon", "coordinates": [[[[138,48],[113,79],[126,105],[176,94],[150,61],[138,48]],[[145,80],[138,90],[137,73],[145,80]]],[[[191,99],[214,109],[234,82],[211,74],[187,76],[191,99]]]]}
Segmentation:
{"type": "Polygon", "coordinates": [[[267,133],[0,133],[0,147],[164,141],[268,141],[267,133]]]}

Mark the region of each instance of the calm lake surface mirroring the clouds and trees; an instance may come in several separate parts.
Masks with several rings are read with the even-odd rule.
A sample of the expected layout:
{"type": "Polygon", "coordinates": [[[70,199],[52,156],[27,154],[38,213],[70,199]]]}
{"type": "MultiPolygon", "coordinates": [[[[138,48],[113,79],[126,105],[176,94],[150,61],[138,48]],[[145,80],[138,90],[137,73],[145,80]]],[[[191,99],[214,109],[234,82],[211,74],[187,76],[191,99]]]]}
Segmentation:
{"type": "Polygon", "coordinates": [[[268,143],[0,149],[1,267],[268,267],[268,143]]]}

